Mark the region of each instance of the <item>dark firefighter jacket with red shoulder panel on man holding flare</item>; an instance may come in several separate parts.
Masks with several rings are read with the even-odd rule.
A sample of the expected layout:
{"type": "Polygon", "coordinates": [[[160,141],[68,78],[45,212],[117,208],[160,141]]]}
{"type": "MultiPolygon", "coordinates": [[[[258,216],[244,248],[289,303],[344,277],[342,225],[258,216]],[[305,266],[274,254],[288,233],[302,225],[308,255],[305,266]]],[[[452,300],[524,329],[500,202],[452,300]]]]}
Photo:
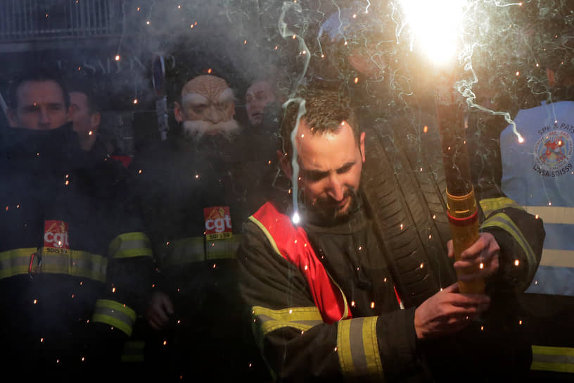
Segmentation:
{"type": "Polygon", "coordinates": [[[398,259],[387,253],[366,206],[327,227],[305,216],[294,226],[288,204],[264,204],[244,225],[238,260],[253,332],[276,380],[520,379],[528,372],[530,344],[521,340],[509,291],[518,287],[517,276],[525,289],[534,275],[541,244],[533,233],[542,223],[504,197],[481,206],[489,218],[482,230],[499,242],[506,273],[488,287],[506,293],[495,294],[487,314],[463,332],[418,341],[416,306],[454,282],[446,254],[426,259],[419,251],[398,259]],[[510,266],[515,259],[521,264],[516,272],[510,266]]]}

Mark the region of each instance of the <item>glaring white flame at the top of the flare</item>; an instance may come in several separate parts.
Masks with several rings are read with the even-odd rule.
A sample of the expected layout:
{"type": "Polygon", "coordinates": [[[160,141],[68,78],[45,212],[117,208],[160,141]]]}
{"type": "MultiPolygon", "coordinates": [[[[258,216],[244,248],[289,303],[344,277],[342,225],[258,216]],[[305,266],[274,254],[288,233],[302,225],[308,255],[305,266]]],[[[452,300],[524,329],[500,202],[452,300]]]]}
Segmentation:
{"type": "Polygon", "coordinates": [[[466,1],[403,0],[402,9],[418,45],[437,65],[454,59],[466,1]]]}

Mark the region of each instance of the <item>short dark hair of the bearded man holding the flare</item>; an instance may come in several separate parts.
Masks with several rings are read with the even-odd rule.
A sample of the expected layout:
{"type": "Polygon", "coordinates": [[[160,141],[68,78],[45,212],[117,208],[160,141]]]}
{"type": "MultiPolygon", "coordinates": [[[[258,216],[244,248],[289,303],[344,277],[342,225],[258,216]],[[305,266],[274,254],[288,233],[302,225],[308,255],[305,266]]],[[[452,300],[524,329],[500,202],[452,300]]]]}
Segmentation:
{"type": "MultiPolygon", "coordinates": [[[[300,92],[300,99],[305,100],[305,118],[307,125],[313,127],[312,134],[326,134],[338,132],[341,123],[346,121],[351,125],[355,142],[359,145],[361,130],[350,101],[341,96],[339,92],[330,89],[307,89],[300,92]]],[[[288,101],[285,113],[281,120],[281,139],[283,139],[283,153],[289,157],[293,155],[291,134],[295,130],[300,103],[296,99],[288,101]]]]}

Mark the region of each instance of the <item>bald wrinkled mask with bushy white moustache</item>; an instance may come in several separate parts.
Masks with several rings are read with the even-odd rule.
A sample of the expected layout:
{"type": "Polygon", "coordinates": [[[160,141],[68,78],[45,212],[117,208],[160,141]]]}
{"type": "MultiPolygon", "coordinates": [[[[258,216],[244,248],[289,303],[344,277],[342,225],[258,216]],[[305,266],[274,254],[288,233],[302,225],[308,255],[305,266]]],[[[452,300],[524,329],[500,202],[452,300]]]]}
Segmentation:
{"type": "Polygon", "coordinates": [[[181,89],[181,104],[175,103],[175,118],[189,137],[224,134],[231,138],[238,130],[234,120],[234,94],[225,80],[200,75],[181,89]]]}

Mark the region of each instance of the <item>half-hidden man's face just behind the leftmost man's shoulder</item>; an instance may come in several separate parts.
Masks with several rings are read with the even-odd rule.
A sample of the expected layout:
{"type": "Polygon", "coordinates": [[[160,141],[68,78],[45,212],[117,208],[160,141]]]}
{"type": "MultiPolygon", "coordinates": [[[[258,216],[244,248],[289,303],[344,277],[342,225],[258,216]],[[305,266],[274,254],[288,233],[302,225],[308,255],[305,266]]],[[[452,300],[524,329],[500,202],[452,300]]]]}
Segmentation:
{"type": "Polygon", "coordinates": [[[88,104],[88,97],[82,92],[70,92],[70,120],[79,136],[82,149],[89,150],[96,140],[100,126],[101,114],[93,113],[88,104]]]}

